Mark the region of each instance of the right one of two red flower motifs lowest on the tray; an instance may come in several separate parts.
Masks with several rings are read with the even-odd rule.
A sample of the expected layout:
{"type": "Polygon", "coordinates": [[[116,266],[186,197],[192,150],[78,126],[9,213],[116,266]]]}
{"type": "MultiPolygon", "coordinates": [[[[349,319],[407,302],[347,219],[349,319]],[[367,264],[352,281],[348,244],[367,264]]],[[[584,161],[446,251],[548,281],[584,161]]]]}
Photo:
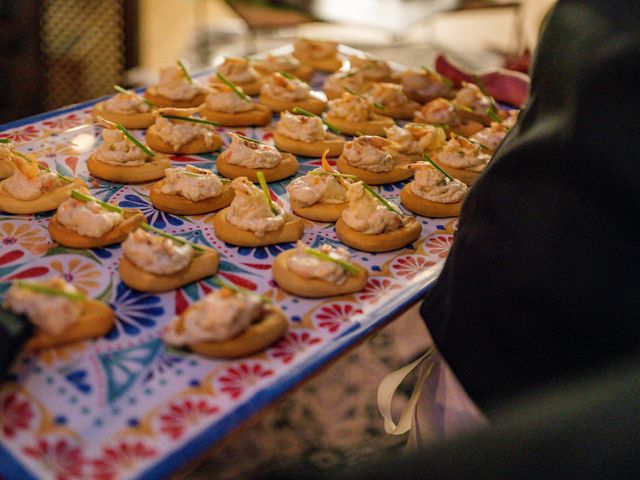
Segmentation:
{"type": "Polygon", "coordinates": [[[120,442],[117,445],[104,447],[102,456],[93,460],[93,475],[96,480],[112,480],[124,471],[131,470],[141,460],[155,457],[157,451],[138,442],[120,442]]]}

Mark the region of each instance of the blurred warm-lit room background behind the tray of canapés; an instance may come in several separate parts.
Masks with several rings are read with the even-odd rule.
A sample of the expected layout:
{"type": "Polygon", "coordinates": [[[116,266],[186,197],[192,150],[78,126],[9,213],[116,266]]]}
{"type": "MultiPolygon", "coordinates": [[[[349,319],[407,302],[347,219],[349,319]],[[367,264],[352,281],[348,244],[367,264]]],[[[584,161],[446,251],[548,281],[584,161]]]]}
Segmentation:
{"type": "Polygon", "coordinates": [[[435,52],[528,67],[553,0],[0,0],[0,123],[143,86],[296,36],[329,38],[408,66],[435,52]]]}

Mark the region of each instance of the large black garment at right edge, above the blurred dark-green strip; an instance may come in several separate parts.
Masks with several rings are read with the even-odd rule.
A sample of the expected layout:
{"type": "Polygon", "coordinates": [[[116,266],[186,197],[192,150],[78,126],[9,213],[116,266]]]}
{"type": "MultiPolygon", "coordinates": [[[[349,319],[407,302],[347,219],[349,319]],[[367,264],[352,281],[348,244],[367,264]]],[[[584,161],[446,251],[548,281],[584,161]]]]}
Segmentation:
{"type": "Polygon", "coordinates": [[[421,313],[487,407],[640,345],[640,2],[560,0],[421,313]]]}

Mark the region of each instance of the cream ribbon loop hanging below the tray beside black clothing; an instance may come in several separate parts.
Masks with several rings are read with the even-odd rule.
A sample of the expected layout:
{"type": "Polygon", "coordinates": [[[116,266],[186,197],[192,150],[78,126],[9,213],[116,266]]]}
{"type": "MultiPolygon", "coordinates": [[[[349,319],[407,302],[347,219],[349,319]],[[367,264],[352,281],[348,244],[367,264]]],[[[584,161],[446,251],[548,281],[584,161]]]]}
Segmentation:
{"type": "MultiPolygon", "coordinates": [[[[412,430],[415,426],[415,411],[422,393],[424,384],[427,377],[431,373],[433,368],[433,356],[436,353],[436,348],[429,348],[420,358],[416,361],[405,365],[404,367],[391,372],[384,377],[380,385],[378,386],[378,410],[384,418],[384,430],[391,435],[402,435],[412,430]],[[400,420],[396,425],[391,415],[391,403],[393,396],[400,384],[405,378],[416,368],[420,366],[420,374],[418,375],[418,381],[416,382],[413,393],[409,398],[409,401],[402,410],[400,420]]],[[[414,432],[415,433],[415,432],[414,432]]]]}

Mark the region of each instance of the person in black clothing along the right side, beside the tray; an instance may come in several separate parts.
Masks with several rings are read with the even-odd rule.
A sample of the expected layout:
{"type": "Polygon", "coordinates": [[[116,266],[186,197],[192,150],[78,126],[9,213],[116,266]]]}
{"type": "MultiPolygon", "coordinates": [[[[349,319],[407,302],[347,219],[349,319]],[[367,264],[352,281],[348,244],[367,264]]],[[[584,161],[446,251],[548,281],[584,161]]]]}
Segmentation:
{"type": "Polygon", "coordinates": [[[421,313],[489,426],[271,478],[640,478],[639,74],[640,2],[559,0],[465,201],[421,313]]]}

